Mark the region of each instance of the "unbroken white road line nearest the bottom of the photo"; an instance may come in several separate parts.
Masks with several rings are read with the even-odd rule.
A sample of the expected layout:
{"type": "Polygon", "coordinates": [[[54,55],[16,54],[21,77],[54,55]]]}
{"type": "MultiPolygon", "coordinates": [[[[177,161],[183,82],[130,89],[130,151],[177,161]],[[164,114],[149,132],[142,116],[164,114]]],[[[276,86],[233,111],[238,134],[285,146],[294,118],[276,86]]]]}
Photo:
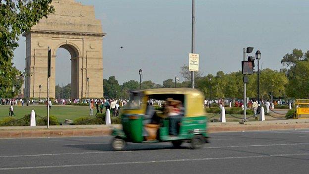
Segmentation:
{"type": "Polygon", "coordinates": [[[229,160],[229,159],[246,159],[246,158],[287,157],[287,156],[306,156],[306,155],[309,155],[309,153],[257,155],[257,156],[243,156],[243,157],[238,156],[238,157],[218,157],[218,158],[194,158],[194,159],[175,159],[175,160],[157,160],[157,161],[134,161],[134,162],[118,162],[118,163],[59,165],[59,166],[31,166],[31,167],[16,167],[16,168],[0,168],[0,171],[25,170],[25,169],[88,167],[88,166],[112,166],[112,165],[149,164],[149,163],[168,163],[168,162],[186,162],[186,161],[229,160]]]}

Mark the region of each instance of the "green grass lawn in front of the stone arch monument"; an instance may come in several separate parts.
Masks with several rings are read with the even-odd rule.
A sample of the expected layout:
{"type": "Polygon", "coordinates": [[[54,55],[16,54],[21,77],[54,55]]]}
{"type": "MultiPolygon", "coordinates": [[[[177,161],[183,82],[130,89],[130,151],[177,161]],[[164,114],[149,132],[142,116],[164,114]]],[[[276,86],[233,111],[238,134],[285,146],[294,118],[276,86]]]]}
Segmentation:
{"type": "MultiPolygon", "coordinates": [[[[47,108],[45,105],[31,105],[31,106],[14,106],[14,114],[16,118],[21,118],[34,110],[39,116],[47,116],[47,108]]],[[[103,110],[105,111],[105,110],[103,110]]],[[[8,116],[9,105],[0,106],[0,120],[8,116]]],[[[88,106],[71,106],[71,105],[53,105],[50,110],[51,116],[56,116],[59,122],[64,122],[64,119],[74,120],[80,116],[89,116],[88,106]]],[[[96,115],[97,110],[94,109],[94,115],[96,115]]]]}

